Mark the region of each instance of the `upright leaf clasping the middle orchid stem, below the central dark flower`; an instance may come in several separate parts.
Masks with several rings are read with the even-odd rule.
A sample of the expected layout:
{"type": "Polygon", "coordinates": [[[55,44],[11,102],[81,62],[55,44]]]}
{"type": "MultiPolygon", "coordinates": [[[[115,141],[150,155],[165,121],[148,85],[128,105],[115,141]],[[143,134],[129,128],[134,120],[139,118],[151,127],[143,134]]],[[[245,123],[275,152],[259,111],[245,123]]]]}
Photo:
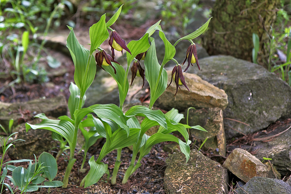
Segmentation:
{"type": "Polygon", "coordinates": [[[128,88],[129,88],[128,79],[124,79],[125,70],[123,69],[121,65],[118,65],[117,63],[114,63],[114,62],[111,62],[111,64],[116,69],[116,74],[114,73],[114,70],[110,65],[109,66],[103,65],[104,66],[103,68],[113,77],[113,79],[115,79],[118,86],[118,91],[119,91],[119,103],[123,104],[128,92],[128,88]],[[125,84],[124,84],[124,81],[125,81],[125,84]],[[124,86],[125,88],[123,88],[124,86]]]}

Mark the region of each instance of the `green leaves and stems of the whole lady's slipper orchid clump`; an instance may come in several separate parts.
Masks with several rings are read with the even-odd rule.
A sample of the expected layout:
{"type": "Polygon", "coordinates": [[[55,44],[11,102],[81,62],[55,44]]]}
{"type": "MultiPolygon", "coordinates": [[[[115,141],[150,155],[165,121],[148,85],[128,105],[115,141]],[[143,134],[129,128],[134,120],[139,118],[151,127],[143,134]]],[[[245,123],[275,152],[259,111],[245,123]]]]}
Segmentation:
{"type": "Polygon", "coordinates": [[[108,72],[113,79],[116,80],[119,90],[120,106],[118,107],[114,104],[95,104],[87,108],[82,108],[86,98],[86,90],[93,82],[96,74],[96,62],[93,53],[96,50],[103,51],[103,49],[100,48],[100,45],[109,38],[108,31],[113,31],[110,26],[118,19],[121,8],[122,6],[108,22],[105,22],[104,14],[99,22],[90,27],[90,50],[85,49],[79,44],[73,29],[68,26],[70,33],[67,39],[67,47],[75,65],[75,84],[71,83],[71,96],[68,101],[71,118],[68,116],[61,116],[58,120],[52,120],[47,118],[44,114],[38,114],[36,117],[42,119],[41,123],[35,125],[26,124],[27,131],[30,128],[47,129],[62,136],[68,142],[70,159],[63,179],[64,188],[68,185],[68,178],[76,161],[74,158],[74,150],[76,148],[77,132],[79,129],[85,138],[85,145],[83,147],[85,154],[88,151],[88,147],[92,146],[98,138],[106,138],[106,143],[103,145],[97,159],[95,160],[94,156],[89,159],[90,170],[80,184],[80,186],[85,187],[95,184],[104,173],[109,174],[108,166],[106,163],[102,162],[102,159],[109,152],[115,149],[117,149],[117,158],[111,178],[112,184],[116,183],[116,176],[121,162],[121,149],[127,146],[133,146],[132,161],[123,178],[123,184],[125,184],[129,176],[139,168],[141,165],[141,159],[150,152],[153,145],[164,141],[174,141],[180,145],[181,152],[185,154],[187,162],[190,153],[189,144],[191,143],[187,128],[205,131],[205,129],[200,126],[191,127],[180,124],[179,122],[183,118],[183,115],[179,114],[176,109],[172,109],[164,114],[161,110],[152,110],[152,106],[157,98],[166,90],[168,75],[164,69],[164,65],[168,61],[174,60],[175,45],[180,40],[192,40],[198,37],[207,29],[210,19],[194,33],[180,38],[175,45],[172,45],[167,40],[161,26],[159,25],[160,21],[152,25],[142,38],[139,40],[132,40],[127,44],[127,48],[130,52],[126,51],[126,70],[121,65],[114,62],[114,56],[110,61],[111,65],[99,64],[102,69],[108,72]],[[155,31],[158,31],[159,37],[163,40],[165,45],[165,55],[161,65],[157,60],[155,39],[151,37],[155,31]],[[147,52],[144,59],[144,74],[150,86],[149,107],[132,106],[129,110],[123,113],[122,108],[129,89],[127,76],[130,65],[133,60],[136,61],[137,55],[144,52],[147,52]],[[91,113],[94,113],[94,116],[91,113]],[[136,116],[144,118],[141,124],[136,116]],[[152,136],[146,135],[145,132],[154,126],[160,126],[158,132],[152,136]],[[87,127],[90,127],[91,129],[87,131],[87,127]],[[183,140],[173,136],[171,134],[173,131],[180,132],[183,136],[183,140]],[[138,154],[138,161],[136,161],[138,154]]]}

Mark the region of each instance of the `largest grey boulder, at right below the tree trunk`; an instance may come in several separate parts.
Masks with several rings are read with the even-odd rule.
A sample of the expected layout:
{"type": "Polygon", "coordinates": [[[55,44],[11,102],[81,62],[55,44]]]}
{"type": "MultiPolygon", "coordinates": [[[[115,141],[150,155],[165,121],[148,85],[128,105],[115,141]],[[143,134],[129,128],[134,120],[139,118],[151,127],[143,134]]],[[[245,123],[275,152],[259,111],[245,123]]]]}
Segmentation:
{"type": "Polygon", "coordinates": [[[189,68],[203,80],[228,95],[224,110],[226,137],[248,134],[267,127],[281,117],[290,116],[291,87],[260,65],[232,56],[211,56],[199,60],[201,71],[189,68]],[[236,129],[237,131],[234,131],[236,129]]]}

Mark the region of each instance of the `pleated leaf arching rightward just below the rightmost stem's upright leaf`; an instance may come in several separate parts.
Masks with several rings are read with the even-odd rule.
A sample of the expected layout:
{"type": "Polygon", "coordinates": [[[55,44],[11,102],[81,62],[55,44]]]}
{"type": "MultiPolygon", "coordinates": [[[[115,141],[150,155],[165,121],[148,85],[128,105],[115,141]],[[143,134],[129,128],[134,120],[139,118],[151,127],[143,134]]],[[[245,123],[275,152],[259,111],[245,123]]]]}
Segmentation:
{"type": "Polygon", "coordinates": [[[157,121],[161,126],[167,128],[166,118],[161,110],[151,110],[145,106],[132,106],[126,113],[127,117],[142,116],[147,117],[149,120],[157,121]]]}

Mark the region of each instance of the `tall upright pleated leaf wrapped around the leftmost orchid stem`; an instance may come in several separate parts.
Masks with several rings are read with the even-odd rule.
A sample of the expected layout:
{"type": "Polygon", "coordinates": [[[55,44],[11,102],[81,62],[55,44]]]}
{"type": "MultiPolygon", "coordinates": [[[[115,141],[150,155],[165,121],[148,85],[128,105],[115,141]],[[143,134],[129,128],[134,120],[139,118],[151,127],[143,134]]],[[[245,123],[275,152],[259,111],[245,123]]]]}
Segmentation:
{"type": "Polygon", "coordinates": [[[81,90],[81,92],[85,94],[86,90],[89,88],[94,80],[96,74],[96,62],[94,57],[91,56],[89,71],[88,74],[85,75],[86,65],[89,57],[89,50],[85,49],[82,45],[80,45],[74,34],[73,29],[70,28],[70,30],[71,32],[67,38],[67,47],[70,51],[75,65],[74,81],[78,88],[81,90]]]}

